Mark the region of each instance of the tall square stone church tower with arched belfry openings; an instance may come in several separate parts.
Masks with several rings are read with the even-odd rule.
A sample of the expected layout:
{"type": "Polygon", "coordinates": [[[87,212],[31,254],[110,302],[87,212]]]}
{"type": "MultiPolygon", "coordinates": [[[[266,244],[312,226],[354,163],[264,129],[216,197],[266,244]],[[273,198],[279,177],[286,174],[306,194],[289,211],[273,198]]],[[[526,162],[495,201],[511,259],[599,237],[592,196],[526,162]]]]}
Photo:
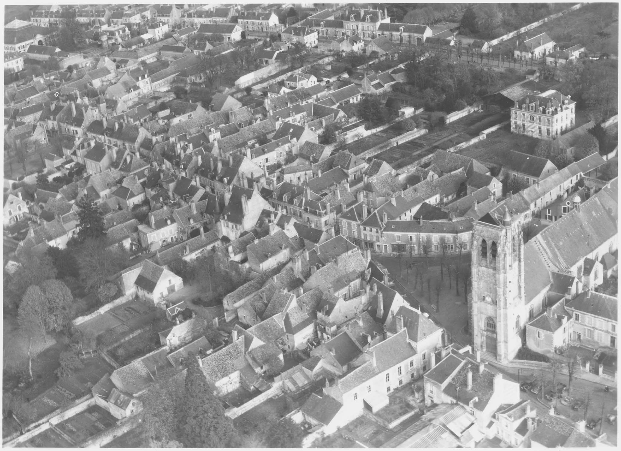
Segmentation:
{"type": "Polygon", "coordinates": [[[522,346],[527,319],[522,218],[505,209],[502,217],[490,212],[475,221],[471,267],[473,349],[507,362],[522,346]]]}

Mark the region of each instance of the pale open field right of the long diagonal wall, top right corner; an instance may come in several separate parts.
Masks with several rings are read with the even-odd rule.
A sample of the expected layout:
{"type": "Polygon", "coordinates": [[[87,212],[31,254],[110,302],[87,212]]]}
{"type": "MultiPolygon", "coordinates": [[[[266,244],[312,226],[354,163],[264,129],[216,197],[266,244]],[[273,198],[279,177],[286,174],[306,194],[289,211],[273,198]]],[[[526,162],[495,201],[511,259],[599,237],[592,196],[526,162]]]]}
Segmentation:
{"type": "Polygon", "coordinates": [[[619,4],[617,3],[592,3],[572,11],[558,19],[551,20],[546,24],[528,30],[528,32],[492,47],[494,52],[513,51],[515,40],[520,42],[525,37],[537,36],[540,33],[548,33],[561,48],[563,44],[584,44],[587,50],[602,51],[617,55],[619,53],[619,4]]]}

